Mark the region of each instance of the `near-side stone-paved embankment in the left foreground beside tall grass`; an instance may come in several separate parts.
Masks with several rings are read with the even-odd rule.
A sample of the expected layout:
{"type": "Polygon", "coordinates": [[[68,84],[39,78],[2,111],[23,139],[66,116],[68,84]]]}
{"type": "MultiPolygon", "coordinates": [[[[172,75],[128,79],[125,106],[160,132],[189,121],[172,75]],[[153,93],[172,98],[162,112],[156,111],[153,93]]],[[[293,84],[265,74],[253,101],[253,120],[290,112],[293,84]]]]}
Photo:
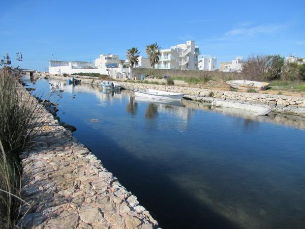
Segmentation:
{"type": "MultiPolygon", "coordinates": [[[[42,105],[40,105],[42,106],[42,105]]],[[[157,228],[137,197],[44,108],[23,166],[21,228],[157,228]],[[26,213],[26,214],[25,214],[26,213]]]]}

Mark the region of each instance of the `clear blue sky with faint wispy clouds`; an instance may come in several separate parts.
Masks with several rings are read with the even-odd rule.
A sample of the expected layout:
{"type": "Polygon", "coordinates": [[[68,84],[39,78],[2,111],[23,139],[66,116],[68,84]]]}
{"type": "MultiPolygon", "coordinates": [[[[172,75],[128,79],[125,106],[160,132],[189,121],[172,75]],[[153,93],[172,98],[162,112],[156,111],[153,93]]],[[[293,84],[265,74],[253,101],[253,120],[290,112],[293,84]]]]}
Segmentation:
{"type": "Polygon", "coordinates": [[[154,42],[193,40],[220,62],[250,54],[305,56],[305,1],[3,0],[0,56],[45,71],[49,60],[90,61],[154,42]]]}

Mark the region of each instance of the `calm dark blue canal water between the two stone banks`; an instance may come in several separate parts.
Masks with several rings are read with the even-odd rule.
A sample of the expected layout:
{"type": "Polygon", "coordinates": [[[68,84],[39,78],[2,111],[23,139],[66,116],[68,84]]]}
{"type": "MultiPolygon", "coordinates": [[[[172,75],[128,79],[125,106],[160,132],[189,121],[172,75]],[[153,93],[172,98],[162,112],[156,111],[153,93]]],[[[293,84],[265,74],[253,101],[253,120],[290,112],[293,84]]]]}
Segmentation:
{"type": "Polygon", "coordinates": [[[162,228],[304,228],[304,120],[59,87],[57,115],[162,228]]]}

